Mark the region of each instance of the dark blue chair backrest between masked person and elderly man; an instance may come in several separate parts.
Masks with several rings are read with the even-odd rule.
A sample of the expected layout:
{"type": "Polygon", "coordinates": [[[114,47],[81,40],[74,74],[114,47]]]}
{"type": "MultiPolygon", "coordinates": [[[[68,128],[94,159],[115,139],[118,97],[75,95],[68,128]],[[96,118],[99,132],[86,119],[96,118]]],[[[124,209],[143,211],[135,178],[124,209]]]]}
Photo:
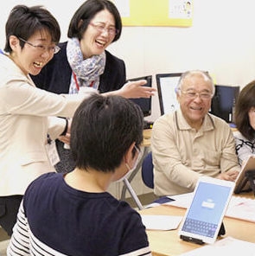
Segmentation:
{"type": "Polygon", "coordinates": [[[153,163],[152,163],[152,153],[148,153],[143,159],[142,164],[142,179],[143,183],[150,189],[154,189],[154,175],[153,175],[153,163]]]}

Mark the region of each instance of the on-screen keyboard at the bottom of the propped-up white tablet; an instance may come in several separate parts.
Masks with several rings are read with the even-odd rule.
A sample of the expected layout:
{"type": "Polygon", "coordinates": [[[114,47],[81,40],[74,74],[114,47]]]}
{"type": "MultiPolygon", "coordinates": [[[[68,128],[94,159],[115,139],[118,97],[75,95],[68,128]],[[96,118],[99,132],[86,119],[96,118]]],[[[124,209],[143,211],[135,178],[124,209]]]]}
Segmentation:
{"type": "Polygon", "coordinates": [[[214,237],[217,225],[205,221],[196,221],[187,219],[184,223],[183,230],[193,234],[201,234],[207,237],[214,237]]]}

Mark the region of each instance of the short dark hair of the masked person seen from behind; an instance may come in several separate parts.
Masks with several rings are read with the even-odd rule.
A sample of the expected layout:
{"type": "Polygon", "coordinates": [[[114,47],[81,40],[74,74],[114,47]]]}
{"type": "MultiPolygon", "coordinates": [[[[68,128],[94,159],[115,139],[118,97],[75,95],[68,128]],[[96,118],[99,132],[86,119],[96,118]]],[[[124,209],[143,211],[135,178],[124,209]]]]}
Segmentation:
{"type": "Polygon", "coordinates": [[[70,147],[80,169],[114,171],[131,144],[139,148],[142,141],[143,112],[130,99],[94,94],[74,113],[70,147]]]}

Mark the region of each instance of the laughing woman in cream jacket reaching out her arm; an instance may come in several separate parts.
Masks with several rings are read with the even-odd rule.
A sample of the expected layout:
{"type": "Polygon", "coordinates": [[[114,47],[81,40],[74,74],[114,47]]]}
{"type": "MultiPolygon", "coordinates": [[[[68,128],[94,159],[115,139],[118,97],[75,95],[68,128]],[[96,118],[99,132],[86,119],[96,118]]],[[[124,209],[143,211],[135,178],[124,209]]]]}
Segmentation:
{"type": "Polygon", "coordinates": [[[29,183],[55,171],[57,157],[48,135],[54,139],[70,132],[64,118],[73,116],[83,96],[46,92],[30,78],[59,51],[60,26],[48,10],[17,5],[5,33],[0,54],[0,225],[10,235],[29,183]]]}

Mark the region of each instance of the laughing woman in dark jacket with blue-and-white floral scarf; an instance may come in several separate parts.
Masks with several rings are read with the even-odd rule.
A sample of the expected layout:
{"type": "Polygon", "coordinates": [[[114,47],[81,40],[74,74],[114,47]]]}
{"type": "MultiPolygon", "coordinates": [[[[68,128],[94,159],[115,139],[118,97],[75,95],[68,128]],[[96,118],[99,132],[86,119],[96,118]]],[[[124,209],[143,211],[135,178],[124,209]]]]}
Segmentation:
{"type": "MultiPolygon", "coordinates": [[[[32,77],[36,86],[54,93],[78,93],[93,87],[99,93],[112,92],[124,86],[124,98],[148,98],[154,88],[144,87],[145,80],[125,83],[124,61],[106,48],[118,41],[122,22],[116,6],[108,0],[87,0],[75,11],[68,29],[68,41],[59,44],[61,51],[32,77]],[[81,88],[81,89],[80,89],[81,88]],[[150,92],[151,91],[151,92],[150,92]]],[[[73,170],[69,150],[70,135],[56,141],[61,162],[55,165],[58,172],[73,170]]]]}

